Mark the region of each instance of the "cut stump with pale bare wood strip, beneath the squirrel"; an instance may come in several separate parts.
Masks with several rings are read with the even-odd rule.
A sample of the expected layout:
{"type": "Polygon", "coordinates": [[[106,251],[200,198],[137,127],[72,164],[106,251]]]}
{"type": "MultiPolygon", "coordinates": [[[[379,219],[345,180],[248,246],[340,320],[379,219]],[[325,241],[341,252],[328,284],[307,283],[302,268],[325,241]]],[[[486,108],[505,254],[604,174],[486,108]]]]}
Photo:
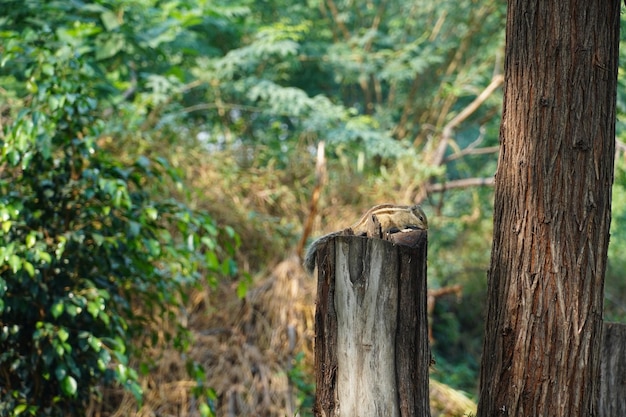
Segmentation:
{"type": "Polygon", "coordinates": [[[427,232],[387,238],[318,251],[316,416],[430,416],[427,232]]]}

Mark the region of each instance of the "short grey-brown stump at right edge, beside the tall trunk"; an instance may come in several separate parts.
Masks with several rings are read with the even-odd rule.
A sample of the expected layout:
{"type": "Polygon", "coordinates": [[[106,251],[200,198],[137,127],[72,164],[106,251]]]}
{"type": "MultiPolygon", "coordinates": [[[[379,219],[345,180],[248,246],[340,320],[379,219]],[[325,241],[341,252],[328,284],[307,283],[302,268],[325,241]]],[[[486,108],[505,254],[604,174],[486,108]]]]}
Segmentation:
{"type": "Polygon", "coordinates": [[[626,324],[604,324],[601,352],[598,417],[626,416],[626,324]]]}

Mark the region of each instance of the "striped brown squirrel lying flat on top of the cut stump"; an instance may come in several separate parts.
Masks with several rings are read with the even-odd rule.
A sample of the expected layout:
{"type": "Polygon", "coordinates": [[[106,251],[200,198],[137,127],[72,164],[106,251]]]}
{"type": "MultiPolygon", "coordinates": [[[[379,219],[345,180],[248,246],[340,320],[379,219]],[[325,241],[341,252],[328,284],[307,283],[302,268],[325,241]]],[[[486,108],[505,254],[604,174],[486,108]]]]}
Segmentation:
{"type": "Polygon", "coordinates": [[[311,243],[304,257],[304,267],[312,274],[319,247],[335,236],[367,236],[383,238],[387,233],[406,229],[427,230],[428,219],[419,205],[398,206],[380,204],[369,209],[361,219],[347,229],[324,235],[311,243]]]}

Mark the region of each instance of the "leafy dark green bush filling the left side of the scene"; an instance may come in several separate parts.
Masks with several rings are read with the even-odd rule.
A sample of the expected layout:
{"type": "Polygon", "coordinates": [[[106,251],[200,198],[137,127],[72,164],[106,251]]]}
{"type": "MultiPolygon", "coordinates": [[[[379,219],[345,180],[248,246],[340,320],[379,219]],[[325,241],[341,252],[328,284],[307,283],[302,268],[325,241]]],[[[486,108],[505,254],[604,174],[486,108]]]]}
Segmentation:
{"type": "MultiPolygon", "coordinates": [[[[1,415],[84,415],[97,384],[117,383],[140,404],[131,343],[153,319],[175,318],[201,264],[211,276],[236,272],[211,218],[152,194],[176,180],[165,160],[122,163],[99,145],[106,104],[122,97],[107,65],[180,30],[169,21],[125,32],[121,9],[107,6],[132,3],[26,1],[2,17],[1,415]]],[[[162,330],[189,344],[182,325],[162,330]]]]}

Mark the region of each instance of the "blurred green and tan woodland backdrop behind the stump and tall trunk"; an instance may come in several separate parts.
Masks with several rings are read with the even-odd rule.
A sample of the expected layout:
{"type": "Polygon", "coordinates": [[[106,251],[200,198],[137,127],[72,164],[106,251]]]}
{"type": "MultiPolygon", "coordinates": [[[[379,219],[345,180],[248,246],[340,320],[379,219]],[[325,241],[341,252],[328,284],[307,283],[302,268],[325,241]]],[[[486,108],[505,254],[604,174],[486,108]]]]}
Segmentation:
{"type": "MultiPolygon", "coordinates": [[[[312,415],[302,247],[385,202],[429,216],[433,415],[471,411],[504,2],[0,10],[0,415],[312,415]]],[[[623,322],[623,68],[617,94],[623,322]]]]}

